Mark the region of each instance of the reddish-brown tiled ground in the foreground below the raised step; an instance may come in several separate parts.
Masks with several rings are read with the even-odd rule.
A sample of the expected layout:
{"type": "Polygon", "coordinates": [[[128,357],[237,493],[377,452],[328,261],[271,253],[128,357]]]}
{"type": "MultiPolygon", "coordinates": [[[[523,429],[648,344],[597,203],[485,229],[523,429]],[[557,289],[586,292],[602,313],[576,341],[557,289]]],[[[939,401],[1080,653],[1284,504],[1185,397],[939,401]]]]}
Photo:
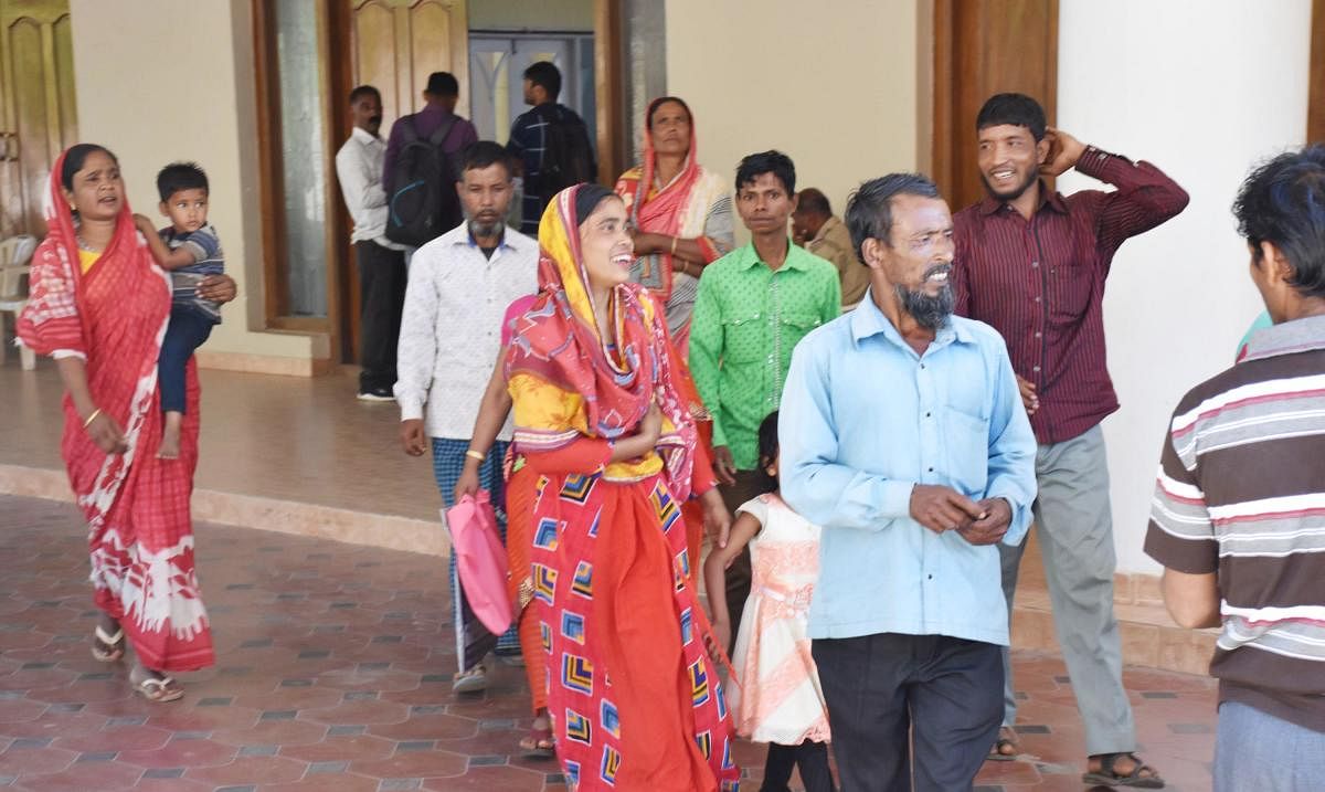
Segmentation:
{"type": "MultiPolygon", "coordinates": [[[[83,528],[73,506],[0,497],[0,787],[60,789],[562,789],[518,756],[523,674],[450,693],[453,636],[429,556],[200,524],[217,666],[170,705],[134,698],[87,653],[83,528]]],[[[1063,664],[1018,654],[1022,762],[979,789],[1081,789],[1081,727],[1063,664]]],[[[1210,788],[1214,686],[1129,670],[1147,760],[1171,789],[1210,788]]],[[[762,747],[737,759],[758,788],[762,747]]]]}

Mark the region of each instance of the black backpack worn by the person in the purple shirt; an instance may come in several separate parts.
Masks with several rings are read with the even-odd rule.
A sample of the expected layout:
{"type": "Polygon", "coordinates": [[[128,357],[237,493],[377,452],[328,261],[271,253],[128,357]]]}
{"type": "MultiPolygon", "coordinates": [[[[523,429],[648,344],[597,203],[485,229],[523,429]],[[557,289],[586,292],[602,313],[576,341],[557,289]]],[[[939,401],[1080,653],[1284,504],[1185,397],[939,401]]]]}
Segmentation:
{"type": "Polygon", "coordinates": [[[413,122],[404,124],[405,143],[392,168],[395,191],[387,212],[387,238],[417,248],[460,225],[456,172],[441,143],[458,122],[452,117],[424,140],[413,122]]]}

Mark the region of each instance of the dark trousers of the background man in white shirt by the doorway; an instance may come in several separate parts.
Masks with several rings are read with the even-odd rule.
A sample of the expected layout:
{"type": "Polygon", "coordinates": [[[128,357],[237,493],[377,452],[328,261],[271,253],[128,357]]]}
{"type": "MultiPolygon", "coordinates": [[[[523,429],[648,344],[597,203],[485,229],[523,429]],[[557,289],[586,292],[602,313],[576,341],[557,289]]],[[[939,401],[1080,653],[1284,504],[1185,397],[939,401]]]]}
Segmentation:
{"type": "Polygon", "coordinates": [[[374,241],[354,244],[359,265],[359,391],[396,384],[396,343],[405,307],[405,254],[374,241]]]}

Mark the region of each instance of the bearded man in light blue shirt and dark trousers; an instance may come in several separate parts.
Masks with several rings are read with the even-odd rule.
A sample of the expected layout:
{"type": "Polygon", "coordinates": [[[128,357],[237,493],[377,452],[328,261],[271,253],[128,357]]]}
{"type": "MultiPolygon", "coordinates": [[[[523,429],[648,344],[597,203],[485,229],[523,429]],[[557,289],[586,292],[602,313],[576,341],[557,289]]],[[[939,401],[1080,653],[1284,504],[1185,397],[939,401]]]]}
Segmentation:
{"type": "Polygon", "coordinates": [[[823,526],[810,608],[844,789],[969,791],[1003,717],[996,544],[1026,535],[1035,436],[1003,339],[953,317],[953,219],[931,181],[847,208],[871,287],[815,330],[782,396],[782,493],[823,526]]]}

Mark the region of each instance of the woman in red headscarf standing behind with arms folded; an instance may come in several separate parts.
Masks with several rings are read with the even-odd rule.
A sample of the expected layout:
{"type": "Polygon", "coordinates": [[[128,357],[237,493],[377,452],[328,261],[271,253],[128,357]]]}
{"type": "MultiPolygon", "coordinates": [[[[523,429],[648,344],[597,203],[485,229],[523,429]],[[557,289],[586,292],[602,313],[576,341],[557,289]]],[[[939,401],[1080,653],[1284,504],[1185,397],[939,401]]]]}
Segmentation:
{"type": "Polygon", "coordinates": [[[682,359],[689,358],[700,275],[735,242],[731,193],[700,164],[697,150],[690,107],[660,97],[644,114],[644,162],[616,180],[635,229],[631,279],[662,303],[682,359]]]}

